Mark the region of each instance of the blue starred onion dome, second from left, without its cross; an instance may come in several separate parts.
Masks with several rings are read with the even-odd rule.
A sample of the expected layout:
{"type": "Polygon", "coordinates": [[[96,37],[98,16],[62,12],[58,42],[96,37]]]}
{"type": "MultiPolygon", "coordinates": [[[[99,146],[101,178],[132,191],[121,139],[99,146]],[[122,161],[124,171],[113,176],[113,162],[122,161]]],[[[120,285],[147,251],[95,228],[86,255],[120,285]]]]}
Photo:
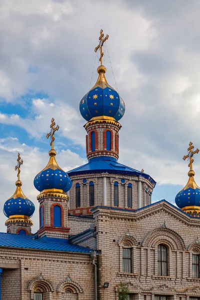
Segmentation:
{"type": "Polygon", "coordinates": [[[58,189],[67,192],[72,185],[71,179],[55,160],[56,151],[51,149],[50,158],[46,167],[34,177],[34,186],[37,190],[58,189]]]}

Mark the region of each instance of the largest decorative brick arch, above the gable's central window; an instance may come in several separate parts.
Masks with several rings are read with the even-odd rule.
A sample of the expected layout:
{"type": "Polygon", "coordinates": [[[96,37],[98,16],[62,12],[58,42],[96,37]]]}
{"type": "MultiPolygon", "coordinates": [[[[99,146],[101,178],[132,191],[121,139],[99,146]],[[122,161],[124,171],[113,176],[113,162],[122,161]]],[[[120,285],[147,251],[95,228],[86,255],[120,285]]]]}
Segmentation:
{"type": "Polygon", "coordinates": [[[185,245],[182,237],[165,225],[149,231],[143,238],[141,245],[145,247],[156,247],[158,244],[166,244],[173,250],[184,250],[185,245]]]}

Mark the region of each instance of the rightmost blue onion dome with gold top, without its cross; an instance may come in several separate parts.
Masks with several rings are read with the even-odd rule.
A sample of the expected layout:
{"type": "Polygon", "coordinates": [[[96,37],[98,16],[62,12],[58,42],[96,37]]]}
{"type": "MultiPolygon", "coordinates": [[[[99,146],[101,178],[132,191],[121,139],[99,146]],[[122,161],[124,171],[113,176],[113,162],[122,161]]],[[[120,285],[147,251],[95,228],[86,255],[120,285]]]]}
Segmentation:
{"type": "Polygon", "coordinates": [[[181,189],[176,197],[176,205],[184,211],[200,211],[200,187],[194,180],[194,171],[189,170],[189,179],[183,189],[181,189]]]}

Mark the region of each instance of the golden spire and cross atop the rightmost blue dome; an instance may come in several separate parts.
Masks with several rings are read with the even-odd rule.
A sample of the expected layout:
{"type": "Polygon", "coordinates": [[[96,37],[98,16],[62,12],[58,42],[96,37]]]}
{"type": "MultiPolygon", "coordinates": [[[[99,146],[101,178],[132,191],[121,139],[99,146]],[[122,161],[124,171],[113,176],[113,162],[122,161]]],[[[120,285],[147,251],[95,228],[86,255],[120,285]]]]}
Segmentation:
{"type": "Polygon", "coordinates": [[[190,141],[189,142],[189,147],[187,148],[188,154],[184,155],[182,157],[183,160],[185,160],[186,158],[189,159],[189,164],[188,164],[189,171],[187,173],[188,176],[189,176],[189,179],[188,179],[187,184],[185,185],[185,187],[183,189],[186,189],[186,188],[189,188],[189,187],[191,187],[191,188],[199,188],[198,185],[196,184],[196,182],[194,181],[193,176],[195,175],[195,172],[193,171],[193,168],[192,168],[192,163],[194,161],[194,159],[193,159],[194,156],[193,155],[196,154],[196,153],[198,153],[199,149],[196,148],[196,150],[193,151],[193,148],[194,148],[194,146],[193,146],[192,142],[190,141]]]}

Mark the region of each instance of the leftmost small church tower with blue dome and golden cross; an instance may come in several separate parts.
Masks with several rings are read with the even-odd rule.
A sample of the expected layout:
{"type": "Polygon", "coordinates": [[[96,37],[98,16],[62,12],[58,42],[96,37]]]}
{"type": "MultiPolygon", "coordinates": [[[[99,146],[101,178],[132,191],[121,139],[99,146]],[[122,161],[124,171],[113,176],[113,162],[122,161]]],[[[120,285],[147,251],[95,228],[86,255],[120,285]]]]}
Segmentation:
{"type": "Polygon", "coordinates": [[[34,204],[22,192],[20,180],[20,166],[23,160],[18,153],[17,181],[15,182],[16,190],[14,194],[5,202],[3,213],[8,219],[5,221],[8,233],[31,234],[32,221],[30,217],[34,212],[34,204]]]}

